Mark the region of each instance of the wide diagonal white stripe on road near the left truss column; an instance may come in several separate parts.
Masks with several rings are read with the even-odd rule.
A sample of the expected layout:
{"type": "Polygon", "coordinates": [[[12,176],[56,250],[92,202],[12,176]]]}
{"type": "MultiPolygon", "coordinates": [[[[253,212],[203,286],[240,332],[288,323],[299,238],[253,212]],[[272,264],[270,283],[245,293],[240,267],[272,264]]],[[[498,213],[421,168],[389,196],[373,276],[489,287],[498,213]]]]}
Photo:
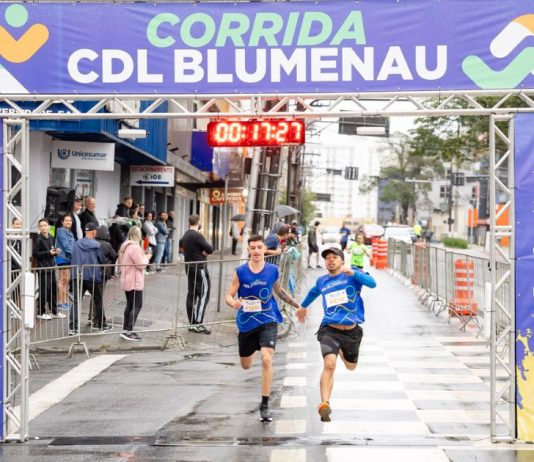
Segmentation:
{"type": "MultiPolygon", "coordinates": [[[[126,355],[100,355],[87,359],[30,396],[30,420],[63,401],[74,390],[89,382],[126,355]]],[[[18,412],[18,410],[17,410],[18,412]]]]}

